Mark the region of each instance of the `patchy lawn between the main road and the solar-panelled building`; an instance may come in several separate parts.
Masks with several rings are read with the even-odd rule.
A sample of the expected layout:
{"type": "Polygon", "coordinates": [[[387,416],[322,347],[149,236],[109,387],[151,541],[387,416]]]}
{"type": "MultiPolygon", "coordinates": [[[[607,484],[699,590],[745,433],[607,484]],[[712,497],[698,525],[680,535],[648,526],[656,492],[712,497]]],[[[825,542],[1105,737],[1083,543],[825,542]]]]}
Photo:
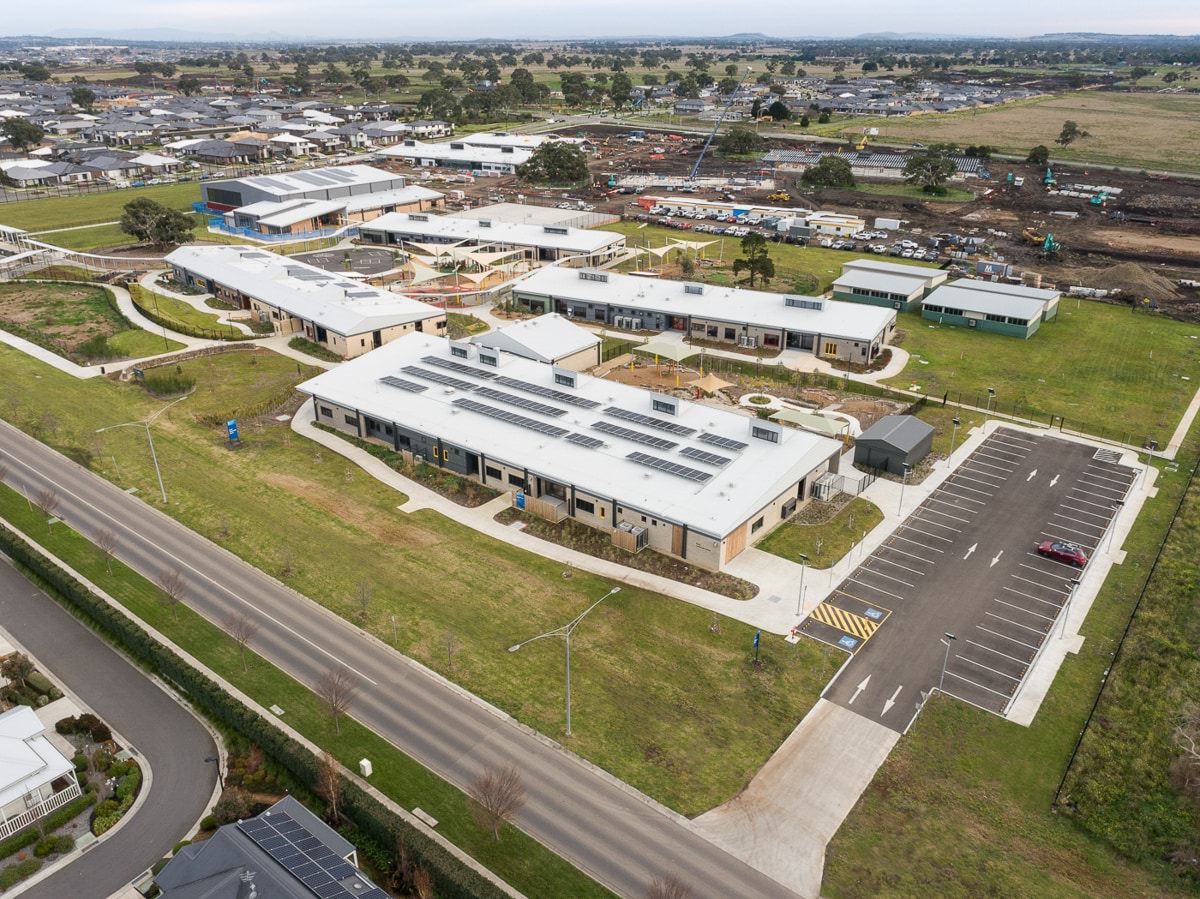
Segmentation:
{"type": "MultiPolygon", "coordinates": [[[[433,511],[402,514],[403,496],[295,437],[274,413],[248,416],[281,385],[311,376],[295,361],[229,353],[184,368],[196,374],[196,392],[155,424],[169,514],[268,573],[290,569],[289,586],[347,617],[358,612],[348,585],[368,580],[364,627],[379,639],[392,641],[395,615],[402,652],[678,811],[698,814],[736,795],[823,687],[815,643],[766,637],[767,664],[755,669],[752,628],[726,621],[714,635],[710,612],[625,587],[576,635],[576,720],[566,738],[558,648],[506,647],[570,621],[608,589],[606,580],[564,579],[562,564],[433,511]],[[200,424],[235,416],[236,453],[223,427],[200,424]],[[311,547],[320,547],[319,559],[311,547]],[[461,645],[452,667],[446,631],[461,645]],[[745,726],[748,707],[754,727],[745,726]]],[[[77,382],[5,348],[0,382],[6,418],[30,431],[46,412],[70,421],[77,433],[60,433],[56,446],[155,502],[144,434],[94,431],[144,418],[160,401],[134,384],[77,382]]]]}

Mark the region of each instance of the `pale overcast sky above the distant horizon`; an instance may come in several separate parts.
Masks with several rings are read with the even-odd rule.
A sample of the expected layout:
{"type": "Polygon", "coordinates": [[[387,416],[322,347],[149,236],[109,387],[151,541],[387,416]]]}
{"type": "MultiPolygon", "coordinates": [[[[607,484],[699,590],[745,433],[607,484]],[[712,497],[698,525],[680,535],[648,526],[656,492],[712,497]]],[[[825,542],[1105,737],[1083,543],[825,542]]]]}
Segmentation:
{"type": "Polygon", "coordinates": [[[938,32],[1025,36],[1049,31],[1200,34],[1200,0],[56,0],[6,4],[6,34],[124,29],[284,34],[325,38],[536,38],[622,35],[852,36],[938,32]]]}

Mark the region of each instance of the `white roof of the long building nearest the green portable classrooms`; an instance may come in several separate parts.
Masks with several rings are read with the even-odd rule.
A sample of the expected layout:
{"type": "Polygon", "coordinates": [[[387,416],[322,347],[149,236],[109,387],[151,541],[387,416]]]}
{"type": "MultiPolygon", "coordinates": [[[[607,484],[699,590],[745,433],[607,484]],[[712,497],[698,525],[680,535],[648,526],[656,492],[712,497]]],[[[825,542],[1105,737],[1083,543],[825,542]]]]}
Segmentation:
{"type": "Polygon", "coordinates": [[[800,308],[788,306],[787,296],[779,293],[688,284],[683,281],[620,275],[614,271],[565,269],[557,265],[539,269],[514,284],[512,289],[518,294],[599,302],[644,312],[691,316],[863,342],[874,340],[895,320],[895,311],[882,306],[805,296],[800,299],[820,302],[821,308],[800,308]],[[606,276],[607,281],[594,280],[598,275],[606,276]],[[702,293],[689,293],[688,287],[700,288],[702,293]]]}

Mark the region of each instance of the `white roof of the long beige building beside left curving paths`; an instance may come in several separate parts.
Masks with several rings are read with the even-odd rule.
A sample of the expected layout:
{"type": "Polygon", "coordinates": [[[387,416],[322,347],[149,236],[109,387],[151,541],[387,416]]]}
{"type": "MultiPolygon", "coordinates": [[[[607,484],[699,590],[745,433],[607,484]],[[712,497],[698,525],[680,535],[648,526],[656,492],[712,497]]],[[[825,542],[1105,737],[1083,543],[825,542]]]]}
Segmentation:
{"type": "Polygon", "coordinates": [[[408,296],[256,247],[181,246],[166,260],[342,336],[443,314],[408,296]]]}

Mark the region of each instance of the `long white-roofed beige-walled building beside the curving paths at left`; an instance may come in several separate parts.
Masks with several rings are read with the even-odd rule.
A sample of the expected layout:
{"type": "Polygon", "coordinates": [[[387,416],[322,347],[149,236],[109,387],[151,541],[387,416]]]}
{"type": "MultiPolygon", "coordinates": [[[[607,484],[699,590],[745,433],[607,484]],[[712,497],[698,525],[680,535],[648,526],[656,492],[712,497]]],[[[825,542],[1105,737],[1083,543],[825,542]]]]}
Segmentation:
{"type": "Polygon", "coordinates": [[[265,250],[181,246],[166,262],[179,283],[347,359],[412,331],[445,334],[444,310],[265,250]]]}

